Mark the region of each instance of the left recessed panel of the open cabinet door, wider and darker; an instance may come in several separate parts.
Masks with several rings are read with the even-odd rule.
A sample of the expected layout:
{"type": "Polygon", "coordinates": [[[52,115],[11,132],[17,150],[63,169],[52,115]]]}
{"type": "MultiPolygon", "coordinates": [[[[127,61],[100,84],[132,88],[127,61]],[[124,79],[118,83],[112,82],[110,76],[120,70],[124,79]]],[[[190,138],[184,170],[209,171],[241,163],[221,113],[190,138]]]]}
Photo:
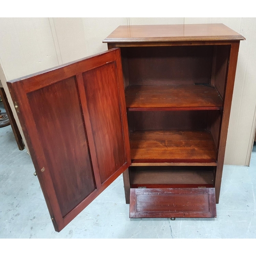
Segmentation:
{"type": "Polygon", "coordinates": [[[95,189],[75,78],[32,91],[27,97],[65,217],[95,189]]]}

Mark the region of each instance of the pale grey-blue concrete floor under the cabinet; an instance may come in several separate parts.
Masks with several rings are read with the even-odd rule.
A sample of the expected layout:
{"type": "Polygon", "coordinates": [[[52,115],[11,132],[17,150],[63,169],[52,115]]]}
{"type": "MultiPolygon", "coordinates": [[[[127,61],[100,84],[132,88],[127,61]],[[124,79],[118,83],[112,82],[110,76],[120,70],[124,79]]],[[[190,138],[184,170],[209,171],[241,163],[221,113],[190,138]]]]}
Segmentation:
{"type": "Polygon", "coordinates": [[[0,128],[0,156],[0,238],[256,238],[256,146],[250,167],[224,166],[215,219],[129,219],[120,176],[59,233],[10,125],[0,128]]]}

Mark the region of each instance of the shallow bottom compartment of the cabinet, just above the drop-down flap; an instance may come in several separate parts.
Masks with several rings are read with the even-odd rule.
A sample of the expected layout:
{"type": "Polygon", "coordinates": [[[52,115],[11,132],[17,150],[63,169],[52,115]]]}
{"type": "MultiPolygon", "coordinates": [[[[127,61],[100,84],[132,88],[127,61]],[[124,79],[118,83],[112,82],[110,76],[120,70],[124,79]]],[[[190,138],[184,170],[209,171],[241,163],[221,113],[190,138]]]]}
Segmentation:
{"type": "Polygon", "coordinates": [[[214,187],[214,166],[130,167],[131,187],[214,187]]]}

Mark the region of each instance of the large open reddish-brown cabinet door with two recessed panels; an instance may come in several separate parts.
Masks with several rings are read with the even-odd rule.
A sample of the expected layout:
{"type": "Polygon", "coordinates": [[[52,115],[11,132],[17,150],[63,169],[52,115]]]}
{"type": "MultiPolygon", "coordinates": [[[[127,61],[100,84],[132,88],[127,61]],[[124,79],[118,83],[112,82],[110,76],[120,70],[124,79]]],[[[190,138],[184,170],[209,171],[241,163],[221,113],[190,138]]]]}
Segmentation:
{"type": "Polygon", "coordinates": [[[8,86],[60,231],[131,164],[120,49],[8,86]]]}

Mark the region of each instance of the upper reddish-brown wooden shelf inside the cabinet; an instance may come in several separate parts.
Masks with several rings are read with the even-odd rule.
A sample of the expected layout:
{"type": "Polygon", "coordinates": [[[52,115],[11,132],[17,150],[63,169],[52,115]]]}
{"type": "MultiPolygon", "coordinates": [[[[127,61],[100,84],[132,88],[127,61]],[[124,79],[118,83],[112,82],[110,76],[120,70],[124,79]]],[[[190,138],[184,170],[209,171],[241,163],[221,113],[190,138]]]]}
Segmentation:
{"type": "Polygon", "coordinates": [[[129,86],[125,100],[129,111],[220,110],[223,103],[215,87],[203,84],[129,86]]]}

